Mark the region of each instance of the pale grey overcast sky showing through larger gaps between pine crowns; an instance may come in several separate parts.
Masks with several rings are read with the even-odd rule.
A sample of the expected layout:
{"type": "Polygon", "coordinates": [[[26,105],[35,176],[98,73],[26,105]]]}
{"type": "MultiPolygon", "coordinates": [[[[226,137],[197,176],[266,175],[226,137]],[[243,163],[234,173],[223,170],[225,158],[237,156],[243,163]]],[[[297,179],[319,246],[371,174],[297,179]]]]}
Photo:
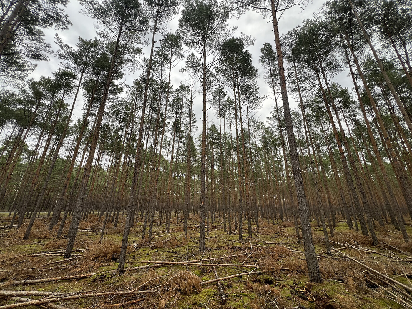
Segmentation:
{"type": "MultiPolygon", "coordinates": [[[[318,10],[323,5],[323,0],[314,0],[310,3],[307,7],[303,10],[299,6],[295,6],[292,9],[286,11],[281,20],[279,21],[279,31],[282,34],[286,34],[289,30],[298,26],[304,19],[311,18],[313,13],[318,12],[318,10]]],[[[59,36],[63,39],[63,42],[69,44],[70,46],[75,47],[75,44],[78,41],[78,37],[83,37],[84,39],[91,39],[96,36],[95,24],[96,21],[89,18],[88,16],[83,15],[80,10],[82,6],[76,1],[71,0],[67,7],[66,13],[69,15],[70,20],[73,23],[73,26],[70,26],[68,30],[65,30],[59,33],[59,36]]],[[[239,19],[231,19],[229,21],[230,26],[238,26],[236,35],[240,35],[241,32],[245,33],[246,35],[251,35],[254,37],[255,44],[248,48],[249,52],[252,54],[253,57],[253,65],[258,68],[258,72],[260,74],[260,78],[258,81],[260,92],[262,96],[267,95],[267,98],[263,102],[262,108],[257,111],[255,114],[255,118],[258,118],[262,121],[266,120],[266,117],[269,116],[270,111],[273,110],[274,107],[274,100],[272,90],[267,86],[266,82],[262,78],[263,68],[259,63],[259,56],[260,56],[260,49],[262,48],[265,42],[269,42],[274,47],[274,35],[273,35],[273,25],[271,22],[271,18],[269,16],[265,19],[262,18],[262,15],[258,12],[248,11],[241,16],[239,19]]],[[[178,17],[173,19],[169,23],[169,28],[171,31],[177,30],[178,28],[178,17]]],[[[49,29],[45,31],[46,40],[47,42],[52,43],[54,50],[58,48],[53,43],[54,42],[54,35],[56,31],[53,29],[49,29]]],[[[148,37],[148,35],[147,35],[148,37]]],[[[148,56],[150,53],[150,48],[145,47],[143,49],[143,53],[145,56],[148,56]]],[[[184,77],[181,73],[179,73],[180,66],[183,66],[183,61],[174,68],[172,72],[172,84],[174,87],[179,85],[180,81],[184,82],[184,77]]],[[[50,75],[52,72],[56,71],[59,68],[59,59],[54,56],[50,56],[49,61],[43,61],[38,64],[36,70],[29,76],[34,77],[35,79],[39,78],[41,75],[50,75]]],[[[124,77],[124,81],[128,84],[131,84],[134,79],[136,79],[141,74],[140,71],[135,71],[130,74],[126,74],[124,77]]],[[[344,79],[346,80],[346,73],[341,73],[335,77],[335,79],[344,79]]],[[[342,81],[341,81],[342,83],[342,81]]],[[[349,86],[349,84],[347,85],[349,86]]],[[[68,101],[69,102],[69,101],[68,101]]],[[[78,117],[81,116],[82,111],[80,110],[82,106],[82,101],[78,101],[77,106],[75,108],[75,112],[73,114],[73,121],[76,121],[78,117]]],[[[290,97],[290,105],[291,108],[295,108],[297,106],[297,102],[290,97]]],[[[197,96],[194,101],[194,113],[196,114],[197,119],[197,126],[200,126],[201,120],[201,110],[202,110],[202,102],[201,96],[197,96]]],[[[213,121],[213,115],[211,115],[211,110],[209,110],[209,119],[213,121]]],[[[194,136],[199,134],[199,132],[194,132],[194,136]]]]}

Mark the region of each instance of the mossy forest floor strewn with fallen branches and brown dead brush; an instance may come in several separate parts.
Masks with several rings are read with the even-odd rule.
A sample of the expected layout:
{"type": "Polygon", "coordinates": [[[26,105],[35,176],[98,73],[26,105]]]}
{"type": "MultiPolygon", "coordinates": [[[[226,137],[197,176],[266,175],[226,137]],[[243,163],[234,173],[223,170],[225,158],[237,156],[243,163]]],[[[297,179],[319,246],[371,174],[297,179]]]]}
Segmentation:
{"type": "MultiPolygon", "coordinates": [[[[0,214],[0,309],[28,304],[36,306],[26,308],[54,309],[412,308],[412,245],[391,225],[376,227],[379,245],[372,246],[369,237],[337,220],[328,255],[323,231],[313,221],[324,281],[311,283],[292,222],[272,225],[262,220],[259,233],[253,224],[252,239],[245,224],[245,240],[239,242],[237,232],[229,235],[222,222],[215,221],[201,254],[197,216],[190,216],[187,239],[175,217],[169,233],[156,220],[154,238],[148,242],[141,238],[143,222],[138,218],[125,266],[132,269],[116,276],[124,218],[117,228],[109,222],[100,241],[103,222],[90,215],[80,223],[72,257],[64,260],[67,241],[54,239],[55,232],[47,229],[49,219],[36,220],[30,239],[23,240],[28,222],[8,229],[10,218],[0,214]],[[223,304],[217,282],[208,281],[238,274],[243,275],[219,281],[223,304]]],[[[410,220],[407,230],[412,235],[410,220]]]]}

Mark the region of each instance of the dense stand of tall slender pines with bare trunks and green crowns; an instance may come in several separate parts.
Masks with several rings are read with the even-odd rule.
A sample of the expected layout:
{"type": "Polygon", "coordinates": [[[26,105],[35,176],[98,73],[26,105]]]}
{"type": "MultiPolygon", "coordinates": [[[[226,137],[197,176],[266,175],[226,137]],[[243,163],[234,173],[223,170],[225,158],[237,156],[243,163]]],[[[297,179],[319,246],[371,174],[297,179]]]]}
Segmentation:
{"type": "Polygon", "coordinates": [[[327,251],[339,218],[375,245],[375,229],[384,225],[409,241],[409,1],[333,0],[283,37],[280,16],[303,3],[79,1],[96,20],[98,38],[79,38],[75,47],[58,38],[63,66],[38,80],[26,75],[30,60],[50,52],[41,29],[67,28],[57,5],[70,3],[1,1],[0,77],[18,86],[0,96],[0,208],[9,212],[10,227],[29,219],[24,238],[41,211],[51,217],[50,230],[58,225],[57,237],[69,219],[67,258],[80,220],[96,213],[103,238],[107,222],[116,226],[125,215],[122,273],[139,217],[150,240],[154,224],[169,230],[172,219],[186,237],[189,215],[199,214],[201,251],[215,221],[243,240],[243,228],[253,237],[259,220],[290,220],[316,282],[322,279],[311,220],[322,227],[327,251]],[[167,32],[180,8],[179,29],[167,32]],[[272,21],[274,45],[265,43],[260,55],[248,51],[251,37],[236,37],[227,23],[247,9],[272,21]],[[262,68],[253,66],[253,56],[262,68]],[[120,82],[139,61],[140,78],[120,82]],[[172,84],[172,74],[186,82],[172,84]],[[349,88],[339,82],[348,81],[345,75],[349,88]],[[260,76],[274,99],[265,122],[253,117],[265,101],[260,76]],[[73,122],[81,97],[83,114],[73,122]],[[290,108],[291,97],[297,108],[290,108]],[[200,104],[201,133],[194,136],[193,109],[200,104]]]}

